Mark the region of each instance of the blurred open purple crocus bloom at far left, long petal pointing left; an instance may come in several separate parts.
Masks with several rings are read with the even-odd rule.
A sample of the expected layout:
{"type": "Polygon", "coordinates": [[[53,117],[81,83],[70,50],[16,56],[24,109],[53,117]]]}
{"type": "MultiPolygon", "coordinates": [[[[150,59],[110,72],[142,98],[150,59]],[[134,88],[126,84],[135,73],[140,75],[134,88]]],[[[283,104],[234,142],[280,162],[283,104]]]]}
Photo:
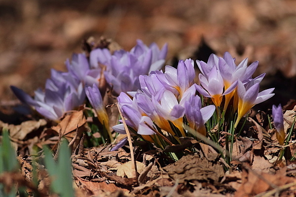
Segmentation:
{"type": "Polygon", "coordinates": [[[23,103],[30,105],[44,117],[59,121],[67,111],[74,110],[85,99],[82,83],[70,75],[52,69],[51,78],[46,80],[45,90],[37,89],[34,99],[14,86],[11,86],[11,90],[23,103]]]}

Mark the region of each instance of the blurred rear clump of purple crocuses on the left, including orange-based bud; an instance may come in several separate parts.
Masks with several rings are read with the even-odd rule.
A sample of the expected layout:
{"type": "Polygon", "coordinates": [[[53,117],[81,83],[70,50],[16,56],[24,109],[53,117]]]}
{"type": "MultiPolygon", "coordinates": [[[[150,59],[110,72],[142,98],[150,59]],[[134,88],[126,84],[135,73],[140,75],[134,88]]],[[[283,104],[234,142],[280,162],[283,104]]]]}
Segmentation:
{"type": "Polygon", "coordinates": [[[67,72],[52,69],[45,90],[35,91],[34,99],[14,86],[11,90],[23,103],[55,121],[59,121],[66,112],[78,108],[87,96],[100,122],[107,126],[108,116],[100,94],[100,91],[105,94],[105,78],[117,94],[136,91],[140,88],[139,75],[159,69],[166,54],[167,45],[159,50],[155,43],[148,47],[141,40],[129,52],[119,50],[111,54],[107,48],[94,49],[89,57],[74,54],[72,60],[65,63],[67,72]]]}

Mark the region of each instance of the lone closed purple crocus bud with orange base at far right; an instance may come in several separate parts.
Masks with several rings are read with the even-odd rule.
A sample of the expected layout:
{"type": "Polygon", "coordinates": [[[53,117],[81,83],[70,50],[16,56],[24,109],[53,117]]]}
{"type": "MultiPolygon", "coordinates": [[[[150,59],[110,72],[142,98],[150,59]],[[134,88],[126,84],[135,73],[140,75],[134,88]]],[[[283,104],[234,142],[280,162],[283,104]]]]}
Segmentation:
{"type": "Polygon", "coordinates": [[[286,133],[284,130],[284,117],[281,104],[279,106],[272,105],[273,124],[276,129],[276,138],[280,145],[284,145],[286,133]]]}

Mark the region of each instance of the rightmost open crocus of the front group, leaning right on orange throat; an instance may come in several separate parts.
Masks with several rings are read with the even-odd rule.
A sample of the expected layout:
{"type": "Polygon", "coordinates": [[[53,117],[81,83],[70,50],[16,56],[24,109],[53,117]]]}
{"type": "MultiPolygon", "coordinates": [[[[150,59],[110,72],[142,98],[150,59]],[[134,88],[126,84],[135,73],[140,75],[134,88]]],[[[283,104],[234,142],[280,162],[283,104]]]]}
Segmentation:
{"type": "Polygon", "coordinates": [[[234,125],[237,127],[240,119],[256,104],[263,102],[271,98],[274,94],[271,94],[274,88],[264,90],[259,93],[259,83],[255,83],[252,86],[244,86],[241,81],[237,84],[237,94],[238,94],[238,115],[234,125]]]}

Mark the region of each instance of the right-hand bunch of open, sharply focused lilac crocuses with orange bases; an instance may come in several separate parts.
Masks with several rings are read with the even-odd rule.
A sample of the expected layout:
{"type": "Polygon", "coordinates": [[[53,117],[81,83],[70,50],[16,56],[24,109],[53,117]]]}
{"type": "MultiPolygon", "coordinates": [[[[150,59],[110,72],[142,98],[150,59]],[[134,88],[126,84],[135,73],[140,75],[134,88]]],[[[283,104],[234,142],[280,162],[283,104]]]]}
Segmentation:
{"type": "Polygon", "coordinates": [[[226,111],[230,100],[233,98],[234,112],[237,110],[236,128],[240,119],[256,104],[271,98],[274,88],[259,93],[259,83],[264,74],[252,78],[258,62],[247,66],[248,58],[238,66],[235,59],[226,52],[222,57],[212,54],[207,63],[197,61],[201,71],[197,91],[204,97],[211,98],[217,109],[221,107],[222,98],[225,97],[223,110],[226,111]]]}

